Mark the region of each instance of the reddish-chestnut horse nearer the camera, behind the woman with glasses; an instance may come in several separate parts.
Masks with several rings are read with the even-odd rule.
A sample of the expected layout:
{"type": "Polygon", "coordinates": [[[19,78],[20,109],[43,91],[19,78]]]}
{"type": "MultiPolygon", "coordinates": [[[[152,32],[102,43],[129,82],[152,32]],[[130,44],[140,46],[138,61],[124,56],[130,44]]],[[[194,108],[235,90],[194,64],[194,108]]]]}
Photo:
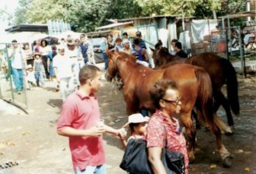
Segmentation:
{"type": "Polygon", "coordinates": [[[230,153],[222,144],[220,126],[222,121],[213,114],[212,84],[208,73],[197,66],[174,64],[165,69],[153,70],[135,63],[135,58],[123,52],[109,54],[108,71],[105,76],[109,81],[119,75],[124,83],[124,100],[127,114],[133,114],[140,109],[155,112],[149,89],[159,79],[173,80],[179,86],[181,96],[180,120],[187,134],[187,152],[189,161],[194,161],[194,145],[196,128],[191,120],[191,110],[196,105],[198,120],[210,126],[216,136],[218,152],[225,166],[231,165],[230,153]]]}

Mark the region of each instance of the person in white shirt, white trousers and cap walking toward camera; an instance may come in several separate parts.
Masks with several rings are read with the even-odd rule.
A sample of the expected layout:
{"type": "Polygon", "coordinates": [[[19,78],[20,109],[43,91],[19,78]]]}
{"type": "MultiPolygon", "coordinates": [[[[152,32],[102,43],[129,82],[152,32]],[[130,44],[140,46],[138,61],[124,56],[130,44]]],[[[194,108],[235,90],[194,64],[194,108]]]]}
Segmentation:
{"type": "Polygon", "coordinates": [[[52,67],[57,82],[60,84],[60,92],[62,94],[62,101],[64,102],[68,94],[73,92],[75,88],[71,58],[65,55],[65,48],[63,46],[59,46],[58,54],[52,60],[52,67]],[[69,89],[67,86],[69,86],[69,89]]]}

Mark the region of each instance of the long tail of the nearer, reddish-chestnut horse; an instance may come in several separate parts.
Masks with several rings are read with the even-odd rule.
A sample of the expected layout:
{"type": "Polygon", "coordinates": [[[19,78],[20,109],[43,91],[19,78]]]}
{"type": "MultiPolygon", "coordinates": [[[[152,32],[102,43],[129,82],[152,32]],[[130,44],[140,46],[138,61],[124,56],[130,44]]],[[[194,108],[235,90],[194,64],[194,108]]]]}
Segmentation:
{"type": "Polygon", "coordinates": [[[216,126],[214,126],[212,82],[210,76],[203,68],[197,68],[195,74],[199,86],[198,98],[196,100],[198,120],[201,124],[214,129],[216,126]]]}

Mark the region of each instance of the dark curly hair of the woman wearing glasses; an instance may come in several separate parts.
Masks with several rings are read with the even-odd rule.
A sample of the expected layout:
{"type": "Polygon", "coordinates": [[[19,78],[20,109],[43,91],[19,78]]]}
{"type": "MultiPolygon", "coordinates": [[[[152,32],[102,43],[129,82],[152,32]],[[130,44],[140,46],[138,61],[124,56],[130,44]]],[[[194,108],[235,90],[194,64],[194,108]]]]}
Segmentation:
{"type": "Polygon", "coordinates": [[[177,84],[172,80],[158,80],[149,90],[151,100],[157,109],[160,108],[159,101],[165,96],[168,89],[177,90],[177,84]]]}

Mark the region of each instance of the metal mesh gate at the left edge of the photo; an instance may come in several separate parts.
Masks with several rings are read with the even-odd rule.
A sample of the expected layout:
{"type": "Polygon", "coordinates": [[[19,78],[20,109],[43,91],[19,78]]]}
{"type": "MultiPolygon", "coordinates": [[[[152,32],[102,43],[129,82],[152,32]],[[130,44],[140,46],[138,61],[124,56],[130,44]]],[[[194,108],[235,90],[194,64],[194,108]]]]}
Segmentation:
{"type": "Polygon", "coordinates": [[[28,109],[26,92],[28,84],[25,67],[23,64],[22,69],[19,70],[19,74],[21,75],[19,76],[19,79],[23,84],[21,84],[21,89],[17,90],[17,82],[15,82],[17,78],[13,78],[15,76],[13,76],[13,74],[17,72],[15,72],[11,66],[11,54],[20,54],[20,56],[24,56],[21,54],[22,44],[23,43],[0,43],[0,98],[26,111],[26,109],[28,109]],[[13,50],[13,44],[17,45],[17,51],[13,50]]]}

